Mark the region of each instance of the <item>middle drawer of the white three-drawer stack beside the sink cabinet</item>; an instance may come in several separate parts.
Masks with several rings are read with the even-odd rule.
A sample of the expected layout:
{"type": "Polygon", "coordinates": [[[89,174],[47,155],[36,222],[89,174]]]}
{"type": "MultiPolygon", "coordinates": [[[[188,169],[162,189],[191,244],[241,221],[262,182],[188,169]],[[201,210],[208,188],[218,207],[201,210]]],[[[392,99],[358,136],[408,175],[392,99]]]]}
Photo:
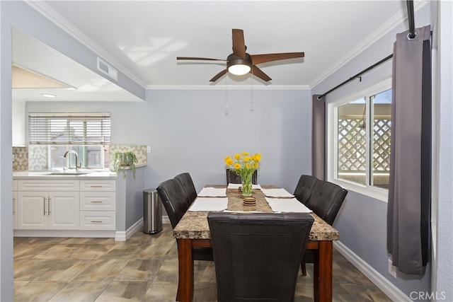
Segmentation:
{"type": "Polygon", "coordinates": [[[80,192],[81,211],[115,211],[115,192],[80,192]]]}

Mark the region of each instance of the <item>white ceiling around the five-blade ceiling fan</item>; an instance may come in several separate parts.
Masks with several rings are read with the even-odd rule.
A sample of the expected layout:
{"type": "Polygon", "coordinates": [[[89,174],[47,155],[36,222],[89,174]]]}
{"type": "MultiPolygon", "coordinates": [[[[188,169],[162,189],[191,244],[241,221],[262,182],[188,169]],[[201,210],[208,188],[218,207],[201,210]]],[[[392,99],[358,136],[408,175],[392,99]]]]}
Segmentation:
{"type": "MultiPolygon", "coordinates": [[[[71,28],[71,34],[145,88],[251,83],[312,87],[406,18],[403,0],[40,1],[30,5],[71,28]],[[225,69],[223,62],[176,61],[178,56],[226,59],[231,53],[232,28],[243,29],[250,54],[305,52],[305,57],[258,65],[272,78],[268,83],[251,79],[250,74],[227,74],[212,84],[212,76],[225,69]]],[[[20,49],[15,45],[13,53],[20,49]]],[[[33,55],[28,62],[17,63],[29,69],[33,68],[26,65],[35,61],[51,67],[48,54],[33,51],[33,55]]],[[[98,76],[91,77],[94,73],[88,76],[74,65],[66,69],[74,74],[66,72],[66,76],[77,81],[63,79],[62,74],[52,77],[76,88],[103,85],[96,83],[98,76]]]]}

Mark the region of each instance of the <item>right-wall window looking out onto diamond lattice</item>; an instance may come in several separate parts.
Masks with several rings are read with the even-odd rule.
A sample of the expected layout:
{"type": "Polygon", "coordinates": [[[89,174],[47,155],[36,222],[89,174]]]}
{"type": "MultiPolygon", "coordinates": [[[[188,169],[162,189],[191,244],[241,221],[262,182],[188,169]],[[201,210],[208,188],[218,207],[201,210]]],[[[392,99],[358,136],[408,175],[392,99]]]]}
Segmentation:
{"type": "Polygon", "coordinates": [[[390,173],[391,89],[374,88],[329,107],[329,178],[352,190],[387,192],[390,173]],[[357,187],[354,187],[357,186],[357,187]]]}

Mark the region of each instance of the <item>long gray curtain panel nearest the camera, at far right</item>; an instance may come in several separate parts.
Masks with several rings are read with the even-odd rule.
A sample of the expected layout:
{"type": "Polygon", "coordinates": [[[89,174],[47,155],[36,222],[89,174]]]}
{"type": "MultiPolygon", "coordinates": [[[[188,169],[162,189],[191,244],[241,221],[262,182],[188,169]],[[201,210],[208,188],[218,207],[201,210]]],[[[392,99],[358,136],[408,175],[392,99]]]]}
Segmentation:
{"type": "Polygon", "coordinates": [[[430,25],[396,35],[393,57],[387,250],[405,274],[423,275],[430,257],[430,25]]]}

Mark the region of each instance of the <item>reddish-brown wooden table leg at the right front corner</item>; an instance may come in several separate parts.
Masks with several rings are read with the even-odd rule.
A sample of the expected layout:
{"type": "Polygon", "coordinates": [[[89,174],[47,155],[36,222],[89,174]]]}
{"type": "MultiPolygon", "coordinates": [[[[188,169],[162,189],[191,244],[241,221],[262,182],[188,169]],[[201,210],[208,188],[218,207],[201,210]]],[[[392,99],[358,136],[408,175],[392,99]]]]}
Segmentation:
{"type": "Polygon", "coordinates": [[[314,252],[314,301],[332,301],[332,241],[319,241],[318,250],[314,252]]]}

